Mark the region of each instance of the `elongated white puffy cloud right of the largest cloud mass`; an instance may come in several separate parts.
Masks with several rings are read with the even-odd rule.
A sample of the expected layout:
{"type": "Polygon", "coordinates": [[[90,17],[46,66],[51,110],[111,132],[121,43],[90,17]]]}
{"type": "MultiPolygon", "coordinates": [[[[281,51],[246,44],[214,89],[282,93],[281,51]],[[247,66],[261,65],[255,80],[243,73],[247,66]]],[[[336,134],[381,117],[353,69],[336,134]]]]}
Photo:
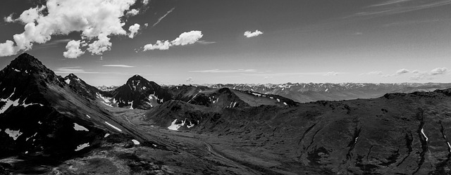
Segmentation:
{"type": "Polygon", "coordinates": [[[194,44],[197,41],[199,41],[199,39],[201,39],[203,36],[204,35],[202,34],[202,32],[197,30],[193,30],[191,32],[183,32],[182,34],[180,34],[180,36],[178,36],[171,42],[169,42],[168,40],[166,41],[158,40],[156,41],[155,44],[146,44],[144,45],[144,51],[155,49],[168,50],[169,47],[171,46],[185,46],[187,44],[194,44]]]}

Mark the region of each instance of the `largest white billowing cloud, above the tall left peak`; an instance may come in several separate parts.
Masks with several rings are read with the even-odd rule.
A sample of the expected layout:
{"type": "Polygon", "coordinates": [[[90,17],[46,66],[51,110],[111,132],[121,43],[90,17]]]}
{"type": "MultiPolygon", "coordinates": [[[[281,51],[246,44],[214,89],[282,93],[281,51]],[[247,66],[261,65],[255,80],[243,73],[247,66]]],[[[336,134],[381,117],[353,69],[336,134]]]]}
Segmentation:
{"type": "Polygon", "coordinates": [[[44,44],[54,35],[79,32],[87,42],[87,51],[101,55],[111,49],[110,37],[125,35],[125,11],[136,0],[47,0],[44,6],[23,11],[16,21],[25,24],[24,32],[14,34],[13,40],[0,43],[0,56],[11,56],[27,51],[34,43],[44,44]]]}

